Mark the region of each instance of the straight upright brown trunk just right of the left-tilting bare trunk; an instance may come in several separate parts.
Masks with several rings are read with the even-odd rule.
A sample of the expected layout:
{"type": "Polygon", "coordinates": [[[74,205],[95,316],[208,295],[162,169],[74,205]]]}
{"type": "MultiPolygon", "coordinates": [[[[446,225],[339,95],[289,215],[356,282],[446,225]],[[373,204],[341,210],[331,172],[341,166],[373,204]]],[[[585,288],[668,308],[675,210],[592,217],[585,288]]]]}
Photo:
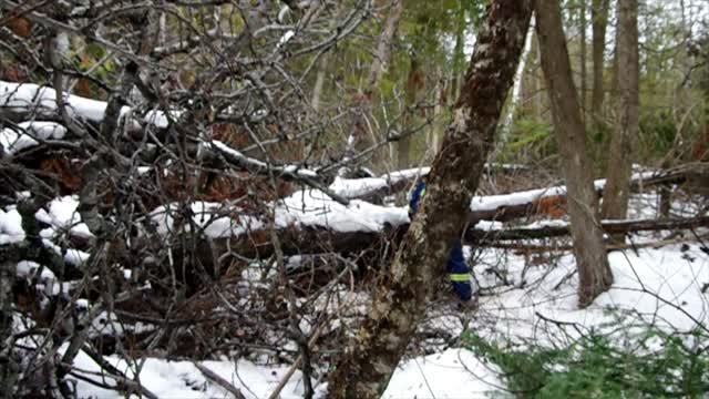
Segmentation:
{"type": "MultiPolygon", "coordinates": [[[[618,99],[615,131],[610,137],[604,218],[625,218],[633,168],[633,143],[638,134],[638,2],[618,0],[618,99]]],[[[619,237],[623,238],[623,237],[619,237]]]]}

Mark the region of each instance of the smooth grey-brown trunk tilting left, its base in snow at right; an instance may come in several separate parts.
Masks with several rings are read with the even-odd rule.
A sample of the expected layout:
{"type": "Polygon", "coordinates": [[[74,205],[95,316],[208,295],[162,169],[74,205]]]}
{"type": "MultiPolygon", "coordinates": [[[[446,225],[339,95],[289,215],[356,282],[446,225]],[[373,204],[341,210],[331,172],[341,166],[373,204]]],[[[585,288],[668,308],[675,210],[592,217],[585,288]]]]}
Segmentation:
{"type": "Polygon", "coordinates": [[[554,133],[562,153],[562,167],[571,198],[568,214],[574,237],[574,256],[578,265],[578,306],[585,307],[610,287],[613,275],[597,218],[598,195],[594,190],[586,130],[572,80],[562,28],[562,10],[555,0],[536,0],[535,11],[542,69],[549,92],[554,133]]]}

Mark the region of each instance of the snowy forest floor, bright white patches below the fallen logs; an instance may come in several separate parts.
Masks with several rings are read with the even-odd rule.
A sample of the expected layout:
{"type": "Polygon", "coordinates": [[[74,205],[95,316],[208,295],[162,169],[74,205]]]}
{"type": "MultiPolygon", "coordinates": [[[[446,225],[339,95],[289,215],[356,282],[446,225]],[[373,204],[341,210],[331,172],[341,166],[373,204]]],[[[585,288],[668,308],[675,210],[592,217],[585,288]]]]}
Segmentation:
{"type": "MultiPolygon", "coordinates": [[[[656,198],[651,193],[636,195],[630,216],[654,216],[656,198]]],[[[606,334],[618,346],[627,346],[634,335],[641,335],[648,328],[667,334],[706,330],[709,327],[706,234],[706,231],[655,232],[630,236],[630,248],[609,254],[615,277],[613,287],[586,309],[576,306],[577,276],[568,250],[535,253],[467,247],[466,255],[473,257],[475,265],[480,308],[459,311],[445,298],[433,301],[420,329],[448,338],[412,345],[383,397],[512,396],[500,367],[459,339],[470,334],[507,347],[524,348],[531,345],[564,347],[590,331],[606,334]]],[[[132,377],[140,367],[141,383],[160,398],[230,397],[192,361],[144,358],[126,362],[115,356],[106,356],[105,360],[123,370],[126,377],[132,377]]],[[[226,358],[201,364],[247,398],[268,397],[289,368],[289,365],[265,366],[226,358]]],[[[80,354],[74,366],[76,370],[84,370],[86,378],[101,381],[100,367],[85,354],[80,354]]],[[[113,385],[110,379],[106,382],[113,385]]],[[[316,397],[325,397],[326,385],[322,381],[314,385],[316,397]]],[[[82,380],[78,381],[78,392],[80,397],[122,396],[82,380]]],[[[302,393],[301,375],[296,371],[280,397],[298,398],[302,393]]]]}

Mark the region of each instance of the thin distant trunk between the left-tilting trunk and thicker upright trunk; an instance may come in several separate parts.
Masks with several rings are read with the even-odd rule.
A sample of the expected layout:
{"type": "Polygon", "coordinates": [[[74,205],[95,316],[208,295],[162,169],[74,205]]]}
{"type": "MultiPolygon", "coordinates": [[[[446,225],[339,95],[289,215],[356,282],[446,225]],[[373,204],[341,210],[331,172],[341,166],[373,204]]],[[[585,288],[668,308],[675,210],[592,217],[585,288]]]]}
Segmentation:
{"type": "Polygon", "coordinates": [[[593,59],[594,59],[594,88],[590,98],[590,114],[594,124],[603,122],[603,71],[604,51],[606,49],[606,25],[608,24],[609,0],[593,0],[590,6],[590,19],[593,29],[593,59]]]}

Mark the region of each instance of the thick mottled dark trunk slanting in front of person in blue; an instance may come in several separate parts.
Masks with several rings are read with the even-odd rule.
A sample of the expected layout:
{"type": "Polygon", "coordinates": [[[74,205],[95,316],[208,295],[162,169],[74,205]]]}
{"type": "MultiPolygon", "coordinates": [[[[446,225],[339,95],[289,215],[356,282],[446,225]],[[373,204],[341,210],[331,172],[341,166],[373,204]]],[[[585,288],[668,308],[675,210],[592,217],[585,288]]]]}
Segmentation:
{"type": "Polygon", "coordinates": [[[384,272],[363,325],[330,377],[330,397],[379,398],[425,314],[465,223],[524,47],[530,1],[493,0],[419,215],[384,272]]]}

